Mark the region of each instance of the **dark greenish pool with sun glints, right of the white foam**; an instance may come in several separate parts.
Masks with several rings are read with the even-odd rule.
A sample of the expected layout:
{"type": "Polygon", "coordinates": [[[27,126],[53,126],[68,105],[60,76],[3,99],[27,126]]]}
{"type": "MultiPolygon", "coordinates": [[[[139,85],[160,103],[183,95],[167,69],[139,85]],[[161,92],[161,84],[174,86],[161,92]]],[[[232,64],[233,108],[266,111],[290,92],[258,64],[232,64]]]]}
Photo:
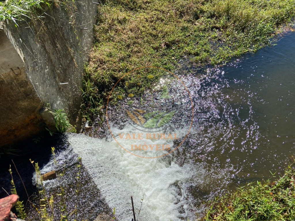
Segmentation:
{"type": "Polygon", "coordinates": [[[291,162],[294,42],[295,34],[289,33],[275,46],[186,77],[196,114],[183,161],[194,160],[206,168],[201,182],[191,182],[194,202],[268,179],[270,171],[278,176],[291,162]]]}

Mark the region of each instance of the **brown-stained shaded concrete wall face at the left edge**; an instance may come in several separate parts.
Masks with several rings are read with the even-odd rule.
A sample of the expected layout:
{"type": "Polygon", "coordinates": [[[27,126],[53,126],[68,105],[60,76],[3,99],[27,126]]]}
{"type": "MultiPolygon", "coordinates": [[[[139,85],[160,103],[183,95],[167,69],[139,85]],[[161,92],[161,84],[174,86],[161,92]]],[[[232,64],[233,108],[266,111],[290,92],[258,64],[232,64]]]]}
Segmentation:
{"type": "Polygon", "coordinates": [[[24,62],[14,46],[0,31],[0,141],[11,144],[42,127],[39,109],[42,101],[28,79],[24,62]],[[14,71],[13,71],[14,70],[14,71]]]}

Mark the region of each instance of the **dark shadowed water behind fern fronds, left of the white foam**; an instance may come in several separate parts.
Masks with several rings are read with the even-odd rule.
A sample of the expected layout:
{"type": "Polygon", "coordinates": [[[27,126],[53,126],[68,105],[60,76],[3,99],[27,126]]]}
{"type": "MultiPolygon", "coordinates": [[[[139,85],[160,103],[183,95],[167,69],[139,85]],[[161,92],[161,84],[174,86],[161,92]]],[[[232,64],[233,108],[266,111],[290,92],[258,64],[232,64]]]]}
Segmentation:
{"type": "Polygon", "coordinates": [[[46,172],[56,169],[58,169],[58,173],[62,173],[64,171],[64,175],[61,179],[56,178],[53,180],[43,181],[47,197],[50,198],[51,194],[55,196],[55,220],[59,220],[58,216],[60,214],[60,208],[58,204],[60,203],[61,198],[58,194],[60,194],[61,187],[63,187],[65,191],[65,205],[67,207],[69,220],[75,219],[74,210],[76,206],[78,207],[78,220],[94,220],[101,212],[112,214],[112,211],[106,205],[103,197],[101,197],[99,189],[97,189],[97,186],[94,184],[92,178],[89,176],[89,173],[83,165],[80,169],[79,184],[77,183],[77,165],[79,165],[78,156],[69,146],[65,136],[44,136],[37,143],[29,140],[24,143],[17,144],[12,148],[17,150],[18,156],[4,154],[1,155],[0,158],[0,197],[7,196],[6,192],[10,194],[11,175],[8,170],[9,165],[11,165],[17,193],[20,196],[20,200],[24,201],[30,220],[40,220],[40,215],[38,215],[36,210],[30,206],[30,203],[28,203],[28,196],[30,198],[29,200],[37,208],[40,203],[36,187],[35,169],[29,159],[38,162],[41,174],[45,174],[46,172]],[[55,156],[58,162],[57,165],[54,165],[51,147],[55,147],[55,156]],[[17,171],[12,160],[17,168],[17,171]],[[22,180],[17,172],[19,172],[22,180]],[[22,184],[22,181],[24,182],[24,185],[22,184]],[[78,196],[76,190],[79,191],[78,196]]]}

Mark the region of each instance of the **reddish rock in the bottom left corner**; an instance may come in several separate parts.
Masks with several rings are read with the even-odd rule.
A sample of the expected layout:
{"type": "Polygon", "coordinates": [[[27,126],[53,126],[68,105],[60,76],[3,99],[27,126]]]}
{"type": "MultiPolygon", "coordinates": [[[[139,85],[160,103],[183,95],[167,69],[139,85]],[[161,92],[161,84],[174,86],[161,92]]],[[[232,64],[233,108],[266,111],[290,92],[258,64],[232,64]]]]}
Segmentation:
{"type": "Polygon", "coordinates": [[[15,194],[0,199],[0,221],[10,219],[10,210],[14,207],[18,199],[19,196],[15,194]]]}

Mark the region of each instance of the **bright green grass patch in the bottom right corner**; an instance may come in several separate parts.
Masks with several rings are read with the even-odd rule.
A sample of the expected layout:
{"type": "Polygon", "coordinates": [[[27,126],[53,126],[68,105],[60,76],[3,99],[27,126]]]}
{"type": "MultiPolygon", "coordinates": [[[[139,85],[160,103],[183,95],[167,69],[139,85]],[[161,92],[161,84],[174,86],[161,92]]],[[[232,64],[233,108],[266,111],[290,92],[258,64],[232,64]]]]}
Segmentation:
{"type": "Polygon", "coordinates": [[[295,170],[289,166],[274,182],[240,188],[213,204],[202,221],[295,220],[295,170]]]}

